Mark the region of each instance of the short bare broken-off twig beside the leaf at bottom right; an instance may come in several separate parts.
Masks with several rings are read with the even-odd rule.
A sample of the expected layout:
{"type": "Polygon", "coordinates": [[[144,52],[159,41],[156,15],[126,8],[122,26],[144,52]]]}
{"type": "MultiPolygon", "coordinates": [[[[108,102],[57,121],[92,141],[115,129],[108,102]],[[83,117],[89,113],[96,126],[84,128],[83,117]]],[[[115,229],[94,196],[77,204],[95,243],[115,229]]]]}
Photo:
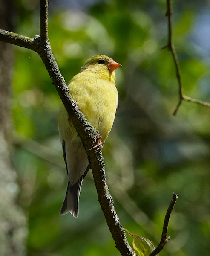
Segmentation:
{"type": "Polygon", "coordinates": [[[165,246],[165,244],[167,244],[167,242],[170,240],[170,236],[167,237],[167,228],[168,228],[168,223],[169,223],[169,218],[170,218],[171,212],[173,210],[173,207],[174,207],[175,202],[176,202],[177,199],[178,199],[178,195],[173,193],[172,200],[170,202],[170,205],[169,205],[169,207],[167,209],[167,212],[166,212],[166,215],[165,215],[161,241],[158,244],[158,247],[156,247],[155,250],[153,250],[153,252],[150,253],[149,256],[157,255],[161,250],[163,250],[163,247],[165,246]]]}

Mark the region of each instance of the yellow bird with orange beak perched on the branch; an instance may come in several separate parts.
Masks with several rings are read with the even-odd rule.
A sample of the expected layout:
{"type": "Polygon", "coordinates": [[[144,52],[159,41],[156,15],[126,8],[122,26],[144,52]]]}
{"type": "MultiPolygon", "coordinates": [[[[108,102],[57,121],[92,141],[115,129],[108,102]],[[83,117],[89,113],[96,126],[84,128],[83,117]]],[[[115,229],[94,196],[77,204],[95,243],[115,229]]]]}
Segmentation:
{"type": "MultiPolygon", "coordinates": [[[[115,69],[120,66],[121,64],[106,55],[95,55],[87,60],[80,73],[68,84],[78,107],[88,122],[99,131],[102,145],[111,131],[118,108],[115,69]]],[[[89,171],[89,163],[83,144],[71,122],[71,116],[69,117],[62,102],[58,112],[58,129],[68,174],[66,197],[60,215],[70,212],[78,217],[81,185],[89,171]]]]}

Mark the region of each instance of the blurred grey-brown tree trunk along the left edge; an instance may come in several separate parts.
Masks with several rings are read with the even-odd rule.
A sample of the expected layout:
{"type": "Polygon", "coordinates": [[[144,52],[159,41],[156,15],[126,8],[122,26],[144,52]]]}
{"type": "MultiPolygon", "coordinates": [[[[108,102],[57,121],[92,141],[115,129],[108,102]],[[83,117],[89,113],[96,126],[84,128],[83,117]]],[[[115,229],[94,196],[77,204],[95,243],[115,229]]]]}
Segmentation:
{"type": "MultiPolygon", "coordinates": [[[[13,31],[14,3],[0,0],[0,28],[13,31]]],[[[0,255],[26,255],[26,218],[16,203],[19,187],[11,164],[10,87],[13,46],[0,42],[0,255]]]]}

